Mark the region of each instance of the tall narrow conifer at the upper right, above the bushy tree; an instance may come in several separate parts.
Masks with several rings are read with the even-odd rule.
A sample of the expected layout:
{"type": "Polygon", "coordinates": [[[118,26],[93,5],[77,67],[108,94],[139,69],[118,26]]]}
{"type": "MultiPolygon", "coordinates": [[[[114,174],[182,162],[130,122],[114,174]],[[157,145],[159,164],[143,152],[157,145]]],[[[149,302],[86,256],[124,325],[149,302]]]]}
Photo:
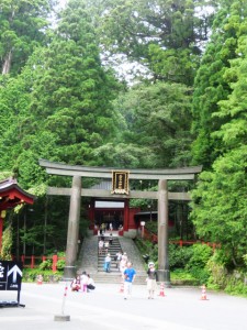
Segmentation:
{"type": "MultiPolygon", "coordinates": [[[[223,1],[214,20],[211,41],[197,73],[193,92],[195,140],[192,155],[193,164],[202,164],[205,169],[211,168],[213,161],[225,152],[222,129],[228,128],[232,116],[229,110],[224,111],[223,116],[222,108],[225,108],[225,102],[227,108],[231,106],[226,100],[234,88],[236,75],[233,69],[229,73],[228,68],[235,63],[232,62],[234,58],[242,57],[238,41],[246,40],[246,7],[242,1],[223,1]],[[215,134],[218,130],[220,133],[215,134]]],[[[244,72],[242,69],[242,73],[244,72]]],[[[245,94],[245,88],[243,91],[245,94]]],[[[232,121],[232,132],[228,131],[228,134],[242,135],[246,119],[242,119],[237,124],[232,121]]]]}

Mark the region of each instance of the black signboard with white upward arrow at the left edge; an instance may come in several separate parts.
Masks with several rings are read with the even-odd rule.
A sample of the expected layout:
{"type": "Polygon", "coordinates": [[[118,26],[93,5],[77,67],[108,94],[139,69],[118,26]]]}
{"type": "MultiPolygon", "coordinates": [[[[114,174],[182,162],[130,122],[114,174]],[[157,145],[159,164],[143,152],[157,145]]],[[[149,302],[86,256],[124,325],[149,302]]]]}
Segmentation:
{"type": "Polygon", "coordinates": [[[22,263],[0,261],[0,290],[21,290],[22,263]]]}

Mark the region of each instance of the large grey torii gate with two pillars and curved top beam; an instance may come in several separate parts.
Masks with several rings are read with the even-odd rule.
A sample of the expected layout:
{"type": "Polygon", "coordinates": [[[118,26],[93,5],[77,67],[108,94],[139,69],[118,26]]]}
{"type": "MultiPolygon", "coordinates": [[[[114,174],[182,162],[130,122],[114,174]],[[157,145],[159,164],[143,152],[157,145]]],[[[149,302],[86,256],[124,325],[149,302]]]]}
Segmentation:
{"type": "MultiPolygon", "coordinates": [[[[77,242],[79,233],[79,218],[80,218],[80,200],[82,197],[100,197],[112,198],[112,191],[102,189],[81,189],[81,177],[94,178],[112,178],[113,170],[119,168],[110,167],[88,167],[66,165],[61,163],[53,163],[46,160],[40,160],[40,165],[46,168],[48,174],[63,175],[72,177],[71,188],[55,188],[49,187],[48,195],[70,196],[70,208],[68,219],[68,233],[66,246],[66,266],[64,277],[70,279],[76,274],[76,257],[77,257],[77,242]]],[[[168,180],[191,180],[194,179],[195,174],[202,170],[202,166],[168,168],[168,169],[124,169],[128,173],[128,178],[138,180],[158,180],[158,191],[137,191],[130,190],[127,195],[117,194],[114,198],[132,199],[145,198],[158,200],[158,280],[165,282],[168,286],[170,284],[170,271],[168,258],[168,199],[189,200],[187,193],[170,193],[168,191],[168,180]]]]}

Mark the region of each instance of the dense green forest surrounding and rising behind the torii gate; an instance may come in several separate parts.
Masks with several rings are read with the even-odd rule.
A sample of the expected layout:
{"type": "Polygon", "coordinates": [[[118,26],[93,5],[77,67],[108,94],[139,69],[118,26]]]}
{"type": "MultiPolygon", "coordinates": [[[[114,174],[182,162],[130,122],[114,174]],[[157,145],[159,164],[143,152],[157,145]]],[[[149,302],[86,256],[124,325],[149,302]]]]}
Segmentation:
{"type": "Polygon", "coordinates": [[[0,67],[1,178],[36,196],[8,213],[13,253],[65,249],[69,200],[45,187],[71,183],[38,158],[203,165],[195,185],[170,189],[191,190],[189,221],[221,244],[215,262],[246,267],[246,1],[4,0],[0,67]]]}

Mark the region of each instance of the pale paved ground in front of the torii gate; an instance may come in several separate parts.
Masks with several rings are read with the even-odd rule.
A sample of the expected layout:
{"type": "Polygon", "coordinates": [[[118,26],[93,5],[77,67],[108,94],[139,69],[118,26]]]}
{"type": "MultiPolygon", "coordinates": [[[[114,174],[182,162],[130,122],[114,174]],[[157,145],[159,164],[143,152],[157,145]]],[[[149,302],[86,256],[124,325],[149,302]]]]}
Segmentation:
{"type": "MultiPolygon", "coordinates": [[[[146,286],[134,285],[133,295],[123,299],[119,285],[98,284],[89,294],[70,293],[63,305],[65,284],[23,284],[21,304],[0,308],[4,330],[246,330],[247,299],[209,293],[200,300],[198,288],[167,288],[165,297],[147,299],[146,286]],[[54,317],[70,316],[70,321],[54,317]]],[[[15,292],[0,292],[0,300],[16,298],[15,292]]]]}

